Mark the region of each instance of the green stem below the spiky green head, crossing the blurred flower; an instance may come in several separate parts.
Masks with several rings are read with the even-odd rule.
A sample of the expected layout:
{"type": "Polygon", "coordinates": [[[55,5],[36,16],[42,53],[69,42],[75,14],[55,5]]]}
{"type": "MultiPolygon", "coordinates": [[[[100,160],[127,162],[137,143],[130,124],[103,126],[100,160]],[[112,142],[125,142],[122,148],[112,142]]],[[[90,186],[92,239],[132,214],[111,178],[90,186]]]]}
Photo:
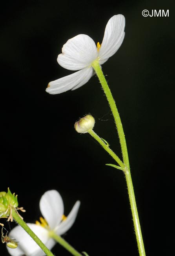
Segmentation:
{"type": "Polygon", "coordinates": [[[12,216],[15,221],[24,228],[24,230],[33,238],[33,240],[41,247],[41,249],[46,253],[47,256],[54,256],[53,253],[42,243],[42,241],[35,235],[35,233],[27,226],[21,217],[16,213],[15,209],[12,209],[12,216]]]}

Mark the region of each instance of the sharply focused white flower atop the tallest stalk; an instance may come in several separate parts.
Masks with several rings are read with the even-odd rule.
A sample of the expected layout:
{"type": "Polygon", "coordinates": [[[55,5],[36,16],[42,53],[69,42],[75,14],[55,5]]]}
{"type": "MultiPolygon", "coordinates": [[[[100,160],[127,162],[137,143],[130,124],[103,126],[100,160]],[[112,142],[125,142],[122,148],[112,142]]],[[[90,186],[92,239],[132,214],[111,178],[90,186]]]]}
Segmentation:
{"type": "Polygon", "coordinates": [[[48,84],[47,93],[57,94],[68,90],[75,90],[93,76],[92,63],[95,60],[102,65],[111,57],[123,42],[125,18],[123,15],[114,15],[109,19],[102,44],[95,42],[88,35],[80,34],[69,39],[62,47],[62,54],[57,61],[60,66],[69,70],[79,70],[69,76],[62,77],[48,84]]]}

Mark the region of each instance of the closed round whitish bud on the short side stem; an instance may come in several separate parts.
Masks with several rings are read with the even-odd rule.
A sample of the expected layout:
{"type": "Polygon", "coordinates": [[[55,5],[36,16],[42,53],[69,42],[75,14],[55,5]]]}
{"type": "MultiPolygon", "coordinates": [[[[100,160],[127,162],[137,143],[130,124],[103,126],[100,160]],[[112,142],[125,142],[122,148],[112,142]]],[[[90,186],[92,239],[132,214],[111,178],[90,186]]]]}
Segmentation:
{"type": "Polygon", "coordinates": [[[85,115],[80,118],[74,125],[75,130],[79,133],[86,134],[89,130],[92,130],[95,124],[95,119],[92,115],[85,115]]]}

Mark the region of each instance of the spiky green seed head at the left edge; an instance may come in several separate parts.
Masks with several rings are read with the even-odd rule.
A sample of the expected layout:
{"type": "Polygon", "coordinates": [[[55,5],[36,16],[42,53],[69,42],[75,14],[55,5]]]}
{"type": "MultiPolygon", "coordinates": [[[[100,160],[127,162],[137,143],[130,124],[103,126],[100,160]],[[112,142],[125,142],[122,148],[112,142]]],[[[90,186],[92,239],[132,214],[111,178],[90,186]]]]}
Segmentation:
{"type": "Polygon", "coordinates": [[[0,192],[0,217],[7,217],[10,215],[11,206],[14,208],[18,207],[18,199],[15,193],[11,193],[9,187],[7,193],[0,192]]]}

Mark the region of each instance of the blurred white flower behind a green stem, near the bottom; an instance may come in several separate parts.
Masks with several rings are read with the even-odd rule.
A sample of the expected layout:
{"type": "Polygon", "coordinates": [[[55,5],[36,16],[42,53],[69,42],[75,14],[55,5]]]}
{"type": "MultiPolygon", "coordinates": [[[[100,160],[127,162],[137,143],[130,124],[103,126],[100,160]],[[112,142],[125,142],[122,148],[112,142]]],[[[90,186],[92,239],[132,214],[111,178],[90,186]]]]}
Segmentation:
{"type": "MultiPolygon", "coordinates": [[[[63,214],[64,205],[62,197],[58,191],[49,190],[40,199],[40,211],[44,217],[44,219],[40,218],[41,224],[38,222],[38,224],[27,223],[27,225],[41,239],[46,247],[51,250],[56,242],[49,237],[49,231],[53,230],[59,236],[64,234],[75,222],[79,206],[80,201],[77,201],[66,218],[63,214]]],[[[18,247],[16,249],[7,247],[9,254],[13,256],[46,255],[21,226],[13,228],[8,236],[14,237],[16,239],[15,241],[18,241],[18,247]]]]}

